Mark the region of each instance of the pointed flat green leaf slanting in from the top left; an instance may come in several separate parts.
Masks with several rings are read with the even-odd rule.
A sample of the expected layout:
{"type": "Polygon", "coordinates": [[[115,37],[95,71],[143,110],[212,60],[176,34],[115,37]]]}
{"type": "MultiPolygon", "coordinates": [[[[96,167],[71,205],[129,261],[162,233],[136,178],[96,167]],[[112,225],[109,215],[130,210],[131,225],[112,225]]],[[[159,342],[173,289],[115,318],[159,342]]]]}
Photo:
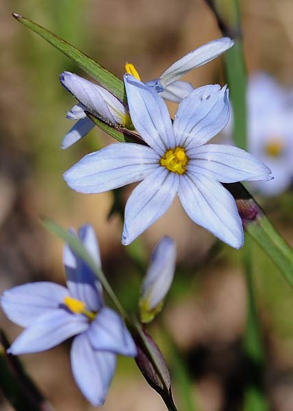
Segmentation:
{"type": "Polygon", "coordinates": [[[14,16],[16,20],[23,23],[23,25],[31,29],[33,32],[44,38],[44,40],[56,47],[56,49],[62,51],[62,53],[78,64],[81,69],[96,79],[102,86],[107,88],[110,92],[113,92],[118,99],[121,101],[125,99],[123,81],[118,79],[116,75],[112,74],[103,66],[100,66],[100,64],[89,58],[88,55],[76,49],[73,45],[70,45],[62,38],[56,36],[56,34],[53,34],[44,27],[34,23],[34,21],[31,21],[28,18],[20,16],[16,13],[13,13],[12,16],[14,16]]]}

